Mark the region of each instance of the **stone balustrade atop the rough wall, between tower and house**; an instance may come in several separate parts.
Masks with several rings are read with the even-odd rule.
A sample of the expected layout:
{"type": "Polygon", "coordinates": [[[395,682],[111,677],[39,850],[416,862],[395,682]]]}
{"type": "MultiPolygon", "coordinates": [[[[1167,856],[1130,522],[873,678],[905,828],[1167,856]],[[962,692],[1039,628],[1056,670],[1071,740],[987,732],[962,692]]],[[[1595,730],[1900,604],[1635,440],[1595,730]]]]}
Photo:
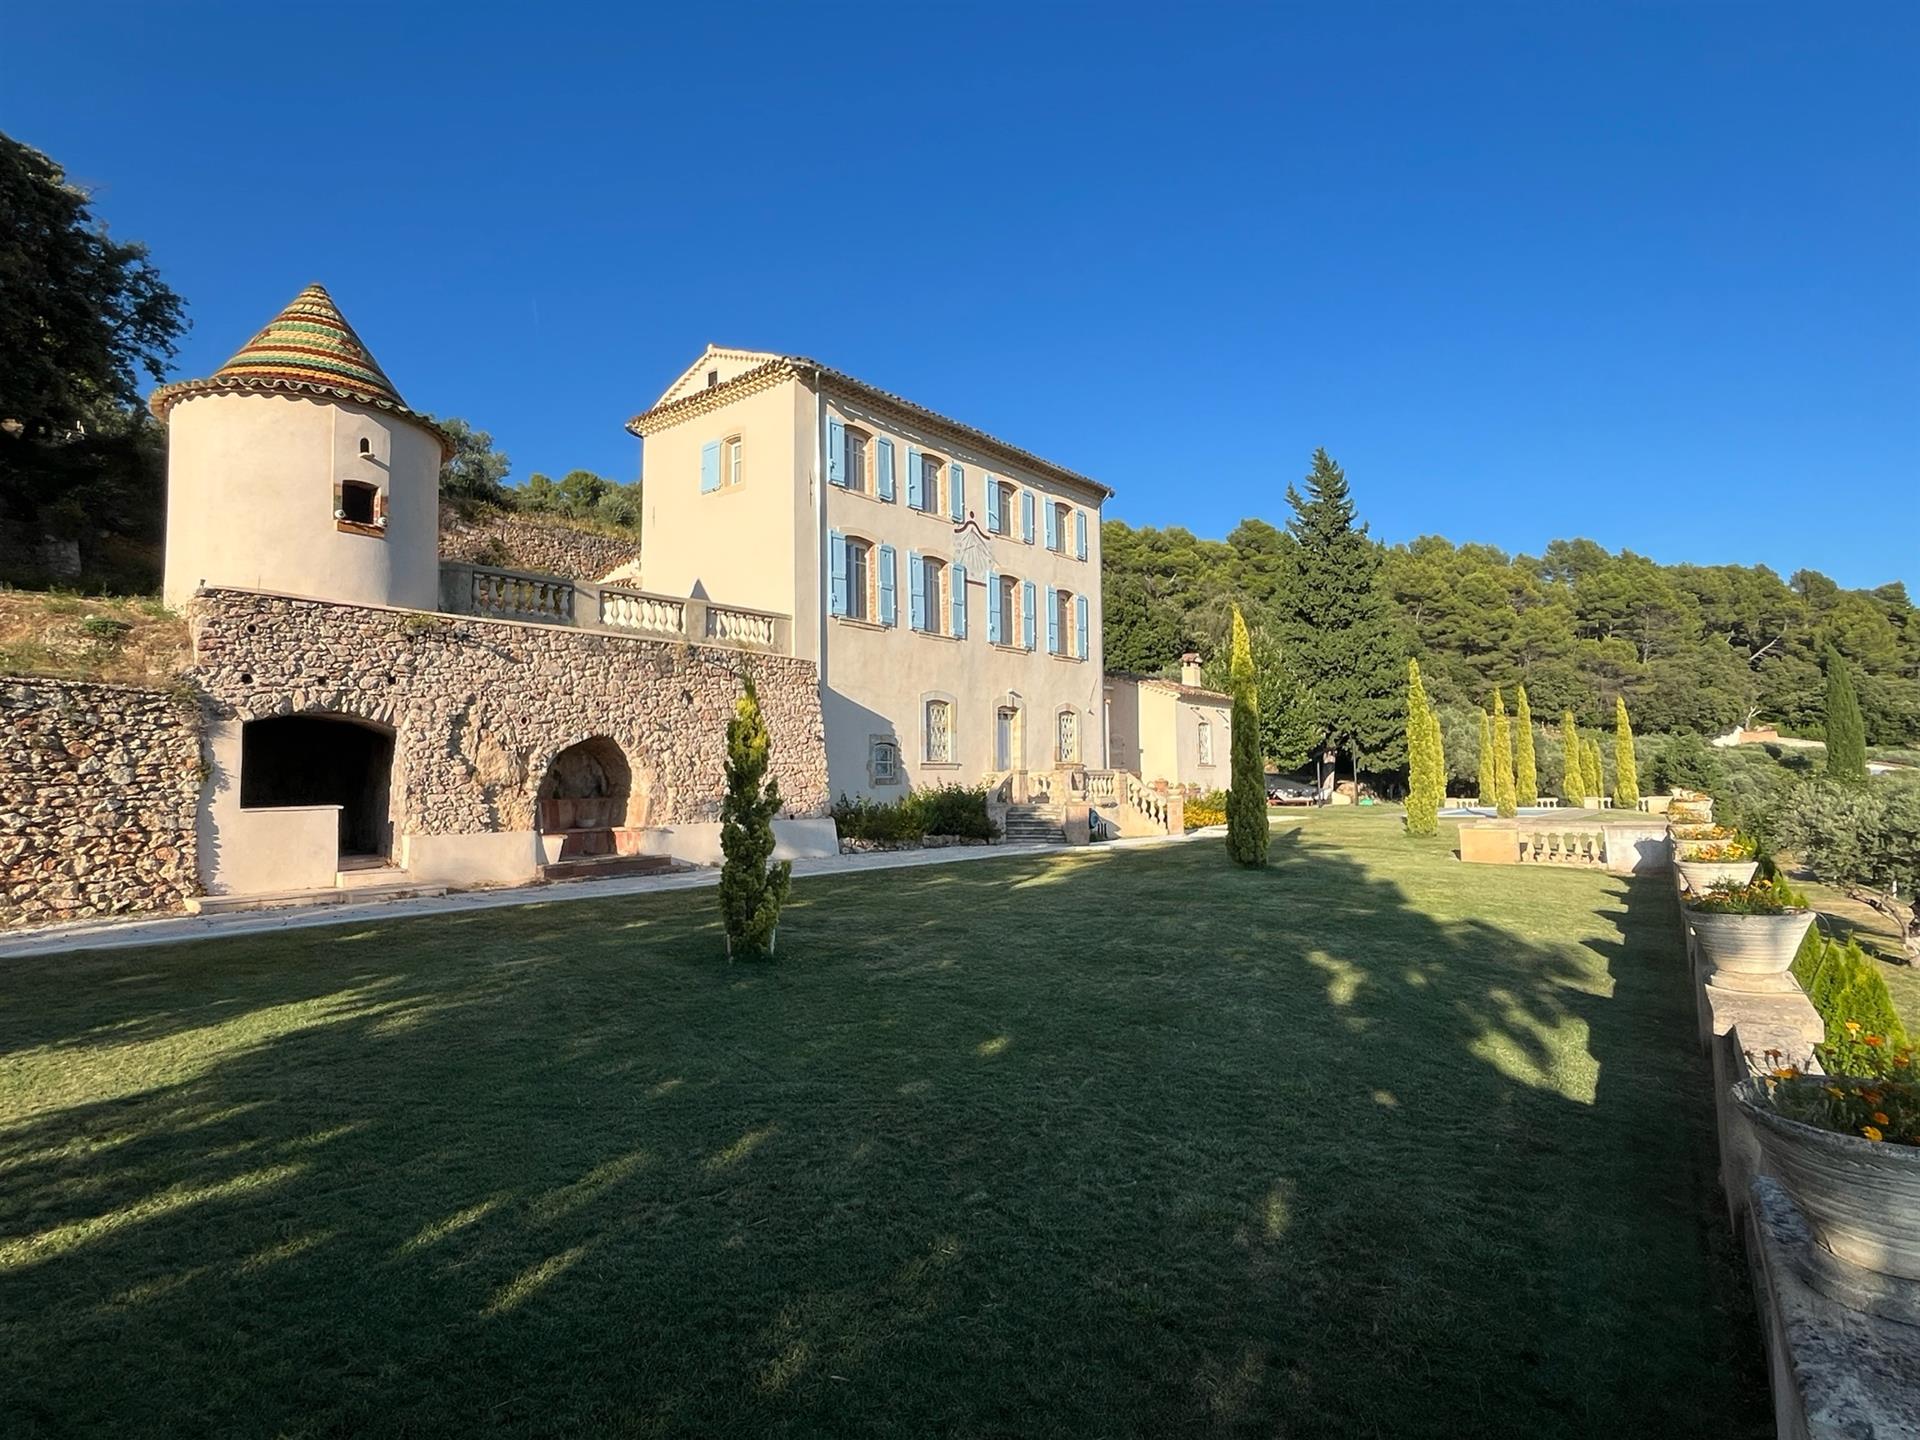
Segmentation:
{"type": "Polygon", "coordinates": [[[440,609],[447,614],[609,630],[768,655],[793,653],[793,618],[772,611],[465,561],[442,563],[440,609]]]}

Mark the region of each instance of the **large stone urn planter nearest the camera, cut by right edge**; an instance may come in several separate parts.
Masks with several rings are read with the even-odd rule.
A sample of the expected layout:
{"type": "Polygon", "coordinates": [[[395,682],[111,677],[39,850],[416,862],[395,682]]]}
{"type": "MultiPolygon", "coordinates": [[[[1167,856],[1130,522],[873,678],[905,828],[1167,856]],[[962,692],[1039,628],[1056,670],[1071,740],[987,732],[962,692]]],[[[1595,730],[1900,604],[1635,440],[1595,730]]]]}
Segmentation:
{"type": "MultiPolygon", "coordinates": [[[[1788,1085],[1870,1085],[1811,1077],[1788,1085]]],[[[1920,1148],[1839,1135],[1774,1114],[1764,1081],[1734,1087],[1766,1169],[1828,1250],[1862,1269],[1920,1281],[1920,1148]]]]}

